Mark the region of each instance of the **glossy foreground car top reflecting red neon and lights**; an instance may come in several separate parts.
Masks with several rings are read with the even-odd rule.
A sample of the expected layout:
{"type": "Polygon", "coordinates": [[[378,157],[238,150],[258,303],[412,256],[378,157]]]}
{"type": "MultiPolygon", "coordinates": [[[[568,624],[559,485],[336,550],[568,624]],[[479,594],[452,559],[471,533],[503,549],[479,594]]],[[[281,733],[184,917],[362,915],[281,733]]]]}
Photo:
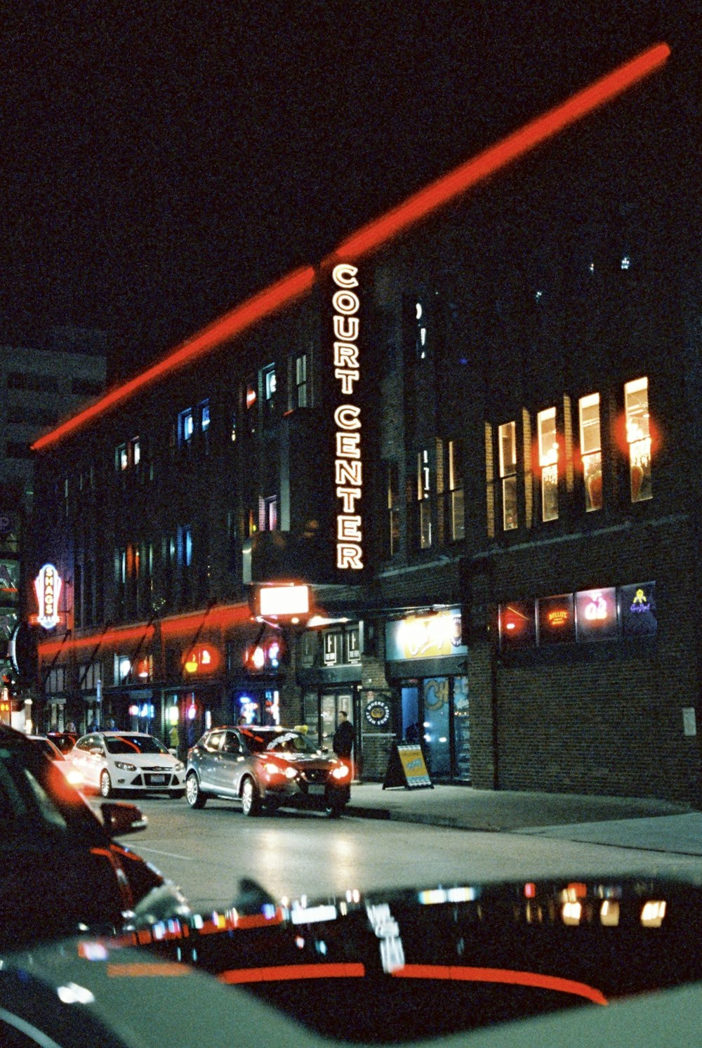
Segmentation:
{"type": "Polygon", "coordinates": [[[191,1017],[179,1044],[214,1048],[258,1046],[263,1030],[301,1048],[687,1045],[701,914],[700,886],[648,878],[278,902],[242,881],[219,913],[6,954],[0,987],[5,1012],[61,1045],[160,1046],[174,1014],[191,1017]],[[81,1035],[58,1036],[59,1018],[81,1035]]]}

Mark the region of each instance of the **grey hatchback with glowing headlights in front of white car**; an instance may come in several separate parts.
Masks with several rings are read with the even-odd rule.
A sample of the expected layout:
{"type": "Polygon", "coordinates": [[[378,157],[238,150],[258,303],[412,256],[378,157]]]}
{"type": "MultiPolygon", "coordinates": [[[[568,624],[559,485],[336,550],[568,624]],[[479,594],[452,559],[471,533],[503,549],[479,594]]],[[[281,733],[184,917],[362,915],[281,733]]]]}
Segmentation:
{"type": "Polygon", "coordinates": [[[351,768],[286,727],[217,727],[188,754],[185,795],[191,808],[207,798],[241,801],[245,815],[282,805],[341,815],[351,798],[351,768]]]}

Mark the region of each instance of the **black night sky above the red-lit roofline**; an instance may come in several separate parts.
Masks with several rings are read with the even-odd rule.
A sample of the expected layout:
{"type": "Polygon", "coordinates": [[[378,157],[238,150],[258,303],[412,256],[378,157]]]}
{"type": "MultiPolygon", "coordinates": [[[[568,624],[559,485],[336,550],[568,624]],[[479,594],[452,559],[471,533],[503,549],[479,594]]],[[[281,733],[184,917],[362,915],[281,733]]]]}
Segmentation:
{"type": "Polygon", "coordinates": [[[0,337],[138,369],[698,6],[6,0],[0,337]]]}

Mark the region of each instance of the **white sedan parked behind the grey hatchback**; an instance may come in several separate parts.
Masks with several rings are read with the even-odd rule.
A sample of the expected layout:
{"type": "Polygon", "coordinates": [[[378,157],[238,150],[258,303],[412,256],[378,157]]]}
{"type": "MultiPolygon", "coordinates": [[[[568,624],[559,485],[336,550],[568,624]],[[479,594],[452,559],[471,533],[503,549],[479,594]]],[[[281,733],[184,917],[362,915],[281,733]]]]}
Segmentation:
{"type": "Polygon", "coordinates": [[[123,790],[174,798],[185,792],[183,762],[144,732],[91,732],[78,740],[70,759],[85,786],[94,787],[103,796],[123,790]]]}

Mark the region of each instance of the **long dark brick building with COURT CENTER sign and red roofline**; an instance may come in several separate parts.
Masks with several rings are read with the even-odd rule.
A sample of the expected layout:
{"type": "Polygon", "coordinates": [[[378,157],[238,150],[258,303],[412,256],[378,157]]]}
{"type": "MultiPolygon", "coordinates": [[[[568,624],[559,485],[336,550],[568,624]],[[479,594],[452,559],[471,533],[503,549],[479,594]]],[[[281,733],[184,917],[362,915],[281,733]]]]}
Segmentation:
{"type": "Polygon", "coordinates": [[[699,802],[699,212],[667,57],[36,443],[46,724],[328,744],[347,708],[367,778],[419,738],[441,781],[699,802]],[[306,624],[250,617],[282,578],[306,624]]]}

